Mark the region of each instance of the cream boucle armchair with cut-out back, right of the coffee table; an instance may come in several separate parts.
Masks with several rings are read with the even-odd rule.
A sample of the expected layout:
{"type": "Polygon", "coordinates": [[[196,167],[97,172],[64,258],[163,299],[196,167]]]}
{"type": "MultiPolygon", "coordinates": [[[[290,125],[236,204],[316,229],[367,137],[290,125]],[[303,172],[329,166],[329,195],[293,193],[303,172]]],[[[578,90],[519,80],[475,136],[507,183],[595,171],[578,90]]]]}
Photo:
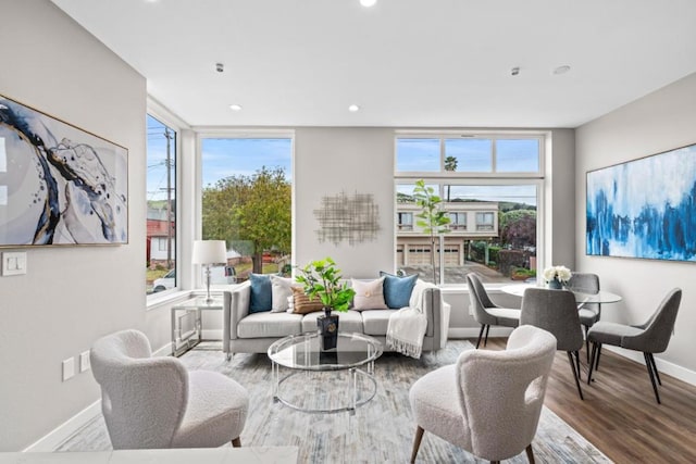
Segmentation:
{"type": "Polygon", "coordinates": [[[505,351],[468,350],[457,364],[421,377],[409,398],[418,424],[411,462],[425,430],[478,457],[497,462],[526,450],[536,435],[556,338],[515,328],[505,351]]]}

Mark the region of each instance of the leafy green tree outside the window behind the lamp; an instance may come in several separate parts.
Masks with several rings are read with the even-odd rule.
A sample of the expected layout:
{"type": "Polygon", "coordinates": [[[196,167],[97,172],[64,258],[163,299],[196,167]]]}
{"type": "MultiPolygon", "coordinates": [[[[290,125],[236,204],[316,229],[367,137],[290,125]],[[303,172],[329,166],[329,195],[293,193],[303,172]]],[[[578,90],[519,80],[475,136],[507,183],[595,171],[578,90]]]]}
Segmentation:
{"type": "Polygon", "coordinates": [[[265,166],[256,174],[217,180],[203,189],[203,239],[225,240],[244,255],[251,255],[253,271],[261,272],[262,253],[290,252],[290,183],[285,171],[265,166]]]}

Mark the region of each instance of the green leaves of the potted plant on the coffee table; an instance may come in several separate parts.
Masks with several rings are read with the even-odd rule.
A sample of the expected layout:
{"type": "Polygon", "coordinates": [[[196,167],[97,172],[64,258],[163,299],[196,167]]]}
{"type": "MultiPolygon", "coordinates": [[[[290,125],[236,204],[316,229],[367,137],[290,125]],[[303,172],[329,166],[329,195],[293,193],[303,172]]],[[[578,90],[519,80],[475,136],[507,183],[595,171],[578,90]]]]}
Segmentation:
{"type": "Polygon", "coordinates": [[[302,284],[304,293],[310,300],[319,297],[324,308],[339,312],[348,311],[356,291],[348,284],[340,281],[340,269],[331,258],[312,261],[304,267],[298,267],[299,275],[295,279],[302,284]]]}

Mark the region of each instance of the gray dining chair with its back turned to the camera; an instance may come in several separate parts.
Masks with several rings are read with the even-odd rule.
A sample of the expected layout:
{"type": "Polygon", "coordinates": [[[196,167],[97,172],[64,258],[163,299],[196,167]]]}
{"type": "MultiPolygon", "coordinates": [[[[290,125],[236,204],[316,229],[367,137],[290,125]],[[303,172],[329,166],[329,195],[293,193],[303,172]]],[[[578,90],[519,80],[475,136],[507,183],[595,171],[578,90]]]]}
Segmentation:
{"type": "Polygon", "coordinates": [[[522,297],[520,324],[530,324],[550,331],[557,340],[557,349],[568,353],[580,399],[580,349],[583,348],[583,329],[575,304],[575,296],[567,290],[527,288],[522,297]]]}

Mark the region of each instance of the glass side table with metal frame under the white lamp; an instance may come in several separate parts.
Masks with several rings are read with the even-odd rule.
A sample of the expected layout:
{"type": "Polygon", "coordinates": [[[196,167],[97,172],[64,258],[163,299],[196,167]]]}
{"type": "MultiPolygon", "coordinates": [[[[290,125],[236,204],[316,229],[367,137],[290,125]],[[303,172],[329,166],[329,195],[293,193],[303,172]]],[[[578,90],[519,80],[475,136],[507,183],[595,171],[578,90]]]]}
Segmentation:
{"type": "Polygon", "coordinates": [[[202,341],[203,311],[222,311],[224,300],[213,297],[207,302],[206,297],[196,297],[172,306],[172,355],[181,356],[202,341]]]}

